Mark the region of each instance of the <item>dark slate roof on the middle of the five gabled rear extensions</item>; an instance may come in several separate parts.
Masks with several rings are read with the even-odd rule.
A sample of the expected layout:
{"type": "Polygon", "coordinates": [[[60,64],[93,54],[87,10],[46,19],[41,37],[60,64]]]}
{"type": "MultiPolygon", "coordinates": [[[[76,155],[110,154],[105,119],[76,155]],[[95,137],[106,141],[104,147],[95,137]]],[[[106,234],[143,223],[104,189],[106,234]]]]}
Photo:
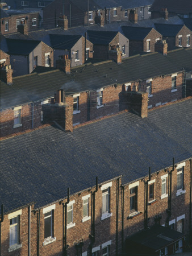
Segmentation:
{"type": "Polygon", "coordinates": [[[110,44],[118,31],[92,31],[87,30],[87,39],[93,44],[110,44]]]}

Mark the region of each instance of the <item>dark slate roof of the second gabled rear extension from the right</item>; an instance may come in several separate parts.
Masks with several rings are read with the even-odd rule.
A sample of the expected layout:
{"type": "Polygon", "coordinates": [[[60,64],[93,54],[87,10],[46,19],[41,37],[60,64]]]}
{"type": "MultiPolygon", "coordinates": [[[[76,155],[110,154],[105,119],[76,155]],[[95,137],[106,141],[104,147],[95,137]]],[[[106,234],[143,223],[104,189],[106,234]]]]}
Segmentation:
{"type": "Polygon", "coordinates": [[[144,40],[144,38],[151,32],[152,27],[129,27],[122,26],[124,36],[130,40],[144,40]]]}

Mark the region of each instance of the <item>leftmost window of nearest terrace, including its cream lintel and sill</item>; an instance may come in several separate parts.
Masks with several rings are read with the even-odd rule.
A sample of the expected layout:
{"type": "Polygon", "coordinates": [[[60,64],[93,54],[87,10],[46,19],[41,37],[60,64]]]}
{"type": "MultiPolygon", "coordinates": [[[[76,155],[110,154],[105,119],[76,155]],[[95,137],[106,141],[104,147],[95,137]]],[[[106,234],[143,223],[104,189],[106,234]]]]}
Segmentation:
{"type": "Polygon", "coordinates": [[[10,251],[19,249],[22,244],[19,244],[19,229],[20,229],[20,215],[22,210],[8,214],[10,221],[10,237],[9,237],[9,253],[10,251]]]}

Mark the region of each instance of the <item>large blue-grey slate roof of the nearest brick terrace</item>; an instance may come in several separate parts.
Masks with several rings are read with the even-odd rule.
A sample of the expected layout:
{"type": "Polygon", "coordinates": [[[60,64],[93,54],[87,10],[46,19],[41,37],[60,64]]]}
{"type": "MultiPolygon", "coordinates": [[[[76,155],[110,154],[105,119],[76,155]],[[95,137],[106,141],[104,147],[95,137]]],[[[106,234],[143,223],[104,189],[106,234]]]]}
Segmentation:
{"type": "Polygon", "coordinates": [[[192,100],[140,118],[125,112],[64,133],[55,126],[1,141],[5,212],[35,201],[43,207],[120,175],[123,184],[191,158],[192,100]],[[180,120],[180,122],[178,122],[180,120]],[[172,125],[170,125],[170,123],[172,125]],[[181,125],[185,123],[185,126],[181,125]],[[43,143],[42,143],[43,142],[43,143]],[[18,154],[19,152],[19,154],[18,154]]]}

